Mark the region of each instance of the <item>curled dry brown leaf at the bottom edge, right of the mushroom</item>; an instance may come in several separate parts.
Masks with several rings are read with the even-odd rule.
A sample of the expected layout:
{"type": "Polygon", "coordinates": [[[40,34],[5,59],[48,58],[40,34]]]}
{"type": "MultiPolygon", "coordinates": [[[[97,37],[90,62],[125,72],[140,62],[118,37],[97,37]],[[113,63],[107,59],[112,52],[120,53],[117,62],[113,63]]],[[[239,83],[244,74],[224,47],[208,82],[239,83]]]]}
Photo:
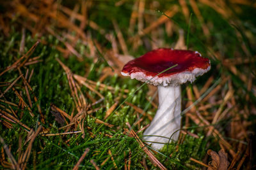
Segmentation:
{"type": "Polygon", "coordinates": [[[208,163],[208,170],[226,170],[228,169],[228,155],[223,150],[220,150],[218,153],[208,150],[208,155],[211,155],[212,160],[208,163]]]}

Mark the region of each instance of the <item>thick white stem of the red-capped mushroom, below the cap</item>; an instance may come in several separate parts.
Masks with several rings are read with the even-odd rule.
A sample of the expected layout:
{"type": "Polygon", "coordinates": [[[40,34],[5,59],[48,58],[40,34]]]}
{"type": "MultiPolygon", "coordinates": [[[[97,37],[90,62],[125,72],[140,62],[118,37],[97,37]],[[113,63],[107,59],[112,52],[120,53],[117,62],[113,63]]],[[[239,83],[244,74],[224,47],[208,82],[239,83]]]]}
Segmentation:
{"type": "Polygon", "coordinates": [[[179,138],[181,121],[180,86],[158,86],[159,106],[150,126],[144,132],[143,139],[156,150],[163,148],[164,143],[179,138]],[[148,135],[148,136],[147,136],[148,135]],[[156,143],[154,143],[156,142],[156,143]],[[163,143],[163,144],[162,144],[163,143]]]}

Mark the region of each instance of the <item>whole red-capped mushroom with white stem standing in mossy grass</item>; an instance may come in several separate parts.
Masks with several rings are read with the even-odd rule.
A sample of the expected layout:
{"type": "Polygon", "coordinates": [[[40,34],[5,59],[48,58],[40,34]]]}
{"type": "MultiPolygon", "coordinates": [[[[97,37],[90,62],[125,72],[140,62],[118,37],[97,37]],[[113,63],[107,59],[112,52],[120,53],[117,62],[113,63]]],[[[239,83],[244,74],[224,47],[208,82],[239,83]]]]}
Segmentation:
{"type": "Polygon", "coordinates": [[[180,84],[192,83],[210,68],[210,60],[201,57],[200,53],[171,48],[152,50],[125,64],[122,75],[146,81],[158,89],[158,110],[143,133],[143,139],[152,144],[152,148],[160,150],[170,139],[177,141],[181,122],[180,84]]]}

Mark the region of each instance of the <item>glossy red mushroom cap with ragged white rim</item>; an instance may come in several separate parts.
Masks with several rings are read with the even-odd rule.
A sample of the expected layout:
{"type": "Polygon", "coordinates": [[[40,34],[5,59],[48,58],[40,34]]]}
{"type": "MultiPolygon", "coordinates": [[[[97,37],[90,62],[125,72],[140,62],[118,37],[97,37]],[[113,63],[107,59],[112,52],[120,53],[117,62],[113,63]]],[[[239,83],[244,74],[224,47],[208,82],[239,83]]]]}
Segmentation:
{"type": "Polygon", "coordinates": [[[196,76],[209,71],[210,60],[200,56],[200,53],[190,50],[159,48],[127,62],[121,73],[153,85],[176,86],[187,81],[193,82],[196,76]],[[161,73],[172,66],[175,67],[161,73]],[[157,74],[159,75],[156,76],[157,74]],[[153,78],[154,76],[156,77],[153,78]]]}

